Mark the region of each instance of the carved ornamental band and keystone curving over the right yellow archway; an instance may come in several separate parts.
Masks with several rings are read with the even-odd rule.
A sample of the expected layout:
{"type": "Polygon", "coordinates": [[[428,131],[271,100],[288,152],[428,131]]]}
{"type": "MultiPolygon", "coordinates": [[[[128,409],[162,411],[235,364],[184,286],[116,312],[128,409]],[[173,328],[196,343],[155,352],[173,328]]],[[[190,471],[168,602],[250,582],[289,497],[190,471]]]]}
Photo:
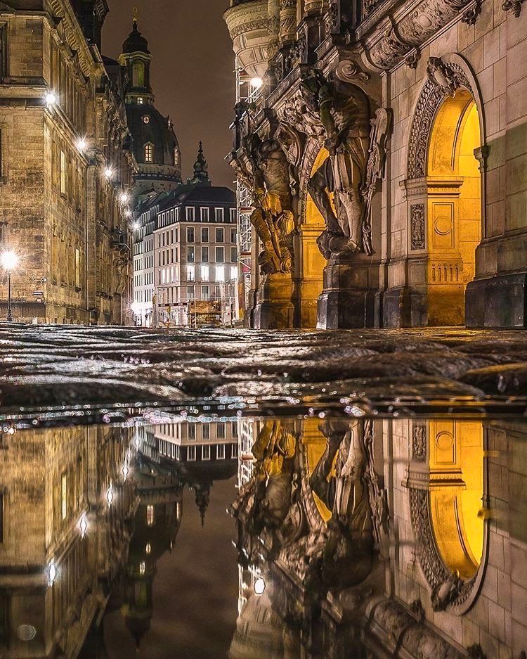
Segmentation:
{"type": "Polygon", "coordinates": [[[429,136],[434,117],[439,104],[446,94],[450,94],[451,87],[459,89],[464,87],[472,91],[467,75],[457,63],[444,63],[441,58],[429,58],[429,68],[432,73],[424,85],[424,89],[417,101],[410,141],[408,144],[408,178],[418,179],[426,176],[426,158],[429,136]],[[430,60],[440,60],[446,75],[437,63],[430,60]],[[443,80],[444,77],[444,80],[443,80]],[[447,91],[443,91],[447,90],[447,91]]]}

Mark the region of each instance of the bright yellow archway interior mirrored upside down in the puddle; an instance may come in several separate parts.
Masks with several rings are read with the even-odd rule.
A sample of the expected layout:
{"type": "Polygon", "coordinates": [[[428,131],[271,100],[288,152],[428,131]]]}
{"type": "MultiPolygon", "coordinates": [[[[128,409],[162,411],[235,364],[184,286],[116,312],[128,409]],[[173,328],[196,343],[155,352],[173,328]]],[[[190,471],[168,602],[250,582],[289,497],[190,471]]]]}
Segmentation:
{"type": "Polygon", "coordinates": [[[445,565],[464,579],[483,554],[483,427],[429,421],[431,524],[445,565]]]}

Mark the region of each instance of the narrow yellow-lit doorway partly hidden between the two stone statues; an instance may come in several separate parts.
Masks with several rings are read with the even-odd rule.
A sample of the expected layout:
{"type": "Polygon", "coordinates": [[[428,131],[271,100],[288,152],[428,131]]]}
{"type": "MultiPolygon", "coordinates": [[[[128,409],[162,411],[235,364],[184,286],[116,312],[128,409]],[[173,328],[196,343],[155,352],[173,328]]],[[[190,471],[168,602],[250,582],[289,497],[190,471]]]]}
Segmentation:
{"type": "MultiPolygon", "coordinates": [[[[321,148],[310,169],[310,176],[322,165],[330,155],[321,148]]],[[[304,222],[300,227],[301,240],[301,296],[300,296],[300,326],[314,328],[317,324],[318,296],[323,289],[323,270],[326,260],[320,253],[317,238],[325,229],[324,218],[320,215],[313,199],[306,194],[304,222]]]]}

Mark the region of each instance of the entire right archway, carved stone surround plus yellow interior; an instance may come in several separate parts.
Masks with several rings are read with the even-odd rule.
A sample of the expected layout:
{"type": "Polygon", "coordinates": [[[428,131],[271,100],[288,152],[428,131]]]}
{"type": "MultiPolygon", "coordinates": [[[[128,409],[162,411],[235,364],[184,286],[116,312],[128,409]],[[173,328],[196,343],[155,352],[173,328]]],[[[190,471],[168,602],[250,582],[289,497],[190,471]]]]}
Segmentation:
{"type": "Polygon", "coordinates": [[[481,96],[467,63],[457,55],[429,58],[408,135],[404,182],[408,284],[419,309],[412,324],[464,324],[465,290],[484,235],[484,142],[481,96]]]}

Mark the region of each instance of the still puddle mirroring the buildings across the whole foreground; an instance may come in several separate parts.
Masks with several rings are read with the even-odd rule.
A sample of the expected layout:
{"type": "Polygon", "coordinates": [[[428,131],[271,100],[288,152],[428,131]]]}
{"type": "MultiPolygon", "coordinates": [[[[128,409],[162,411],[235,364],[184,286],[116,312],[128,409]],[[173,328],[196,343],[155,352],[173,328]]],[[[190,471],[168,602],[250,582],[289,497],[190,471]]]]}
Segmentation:
{"type": "Polygon", "coordinates": [[[149,659],[186,655],[205,628],[209,648],[193,655],[518,659],[527,648],[525,422],[155,421],[1,435],[0,657],[120,659],[119,628],[149,659]],[[214,483],[236,474],[238,494],[221,499],[233,551],[218,531],[232,523],[209,506],[214,483]],[[160,638],[156,616],[173,602],[163,580],[190,515],[202,618],[169,608],[160,638]],[[214,576],[203,556],[217,556],[214,576]],[[235,620],[218,602],[235,602],[237,557],[235,620]]]}

